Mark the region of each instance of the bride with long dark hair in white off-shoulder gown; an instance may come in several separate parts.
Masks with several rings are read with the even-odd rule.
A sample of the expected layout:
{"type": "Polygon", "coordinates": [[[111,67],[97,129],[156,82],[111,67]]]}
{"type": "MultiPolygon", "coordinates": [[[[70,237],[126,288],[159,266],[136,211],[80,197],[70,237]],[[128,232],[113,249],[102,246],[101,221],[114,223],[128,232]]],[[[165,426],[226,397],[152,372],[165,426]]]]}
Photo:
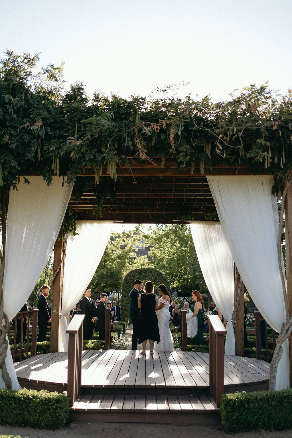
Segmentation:
{"type": "Polygon", "coordinates": [[[172,297],[164,284],[158,286],[158,292],[162,297],[158,300],[158,309],[156,311],[158,318],[158,328],[160,342],[154,343],[155,351],[173,351],[173,338],[169,329],[169,306],[172,304],[172,297]]]}

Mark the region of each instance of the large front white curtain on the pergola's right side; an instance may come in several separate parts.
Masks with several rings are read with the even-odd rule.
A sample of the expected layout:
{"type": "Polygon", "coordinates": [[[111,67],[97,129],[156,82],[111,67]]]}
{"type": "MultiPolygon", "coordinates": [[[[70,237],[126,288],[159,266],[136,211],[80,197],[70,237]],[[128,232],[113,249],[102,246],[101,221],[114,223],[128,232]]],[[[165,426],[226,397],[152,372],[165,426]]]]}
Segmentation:
{"type": "MultiPolygon", "coordinates": [[[[254,304],[280,332],[285,304],[278,265],[277,199],[271,176],[207,177],[232,257],[254,304]]],[[[282,344],[276,389],[289,386],[288,341],[282,344]]]]}

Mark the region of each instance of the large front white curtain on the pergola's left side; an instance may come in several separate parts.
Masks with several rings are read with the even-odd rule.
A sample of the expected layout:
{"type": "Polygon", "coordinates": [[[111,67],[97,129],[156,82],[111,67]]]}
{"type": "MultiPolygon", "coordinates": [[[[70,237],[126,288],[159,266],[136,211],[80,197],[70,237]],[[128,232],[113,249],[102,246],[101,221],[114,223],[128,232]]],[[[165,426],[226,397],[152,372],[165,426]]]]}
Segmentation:
{"type": "MultiPolygon", "coordinates": [[[[25,304],[42,274],[60,231],[72,187],[53,177],[47,185],[42,177],[27,177],[18,190],[10,189],[7,212],[4,269],[4,312],[11,320],[25,304]],[[63,187],[62,187],[63,186],[63,187]]],[[[13,389],[20,389],[10,348],[5,360],[13,389]]],[[[0,371],[0,388],[5,384],[0,371]]]]}

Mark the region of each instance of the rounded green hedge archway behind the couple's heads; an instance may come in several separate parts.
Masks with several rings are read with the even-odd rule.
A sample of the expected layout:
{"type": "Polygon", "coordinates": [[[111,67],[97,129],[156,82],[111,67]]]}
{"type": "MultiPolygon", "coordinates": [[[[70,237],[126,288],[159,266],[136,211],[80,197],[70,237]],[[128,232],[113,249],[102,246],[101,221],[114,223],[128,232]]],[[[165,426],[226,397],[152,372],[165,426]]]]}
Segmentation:
{"type": "Polygon", "coordinates": [[[157,287],[159,284],[163,283],[167,289],[170,290],[168,279],[164,274],[162,274],[162,272],[158,271],[158,269],[139,268],[128,272],[123,278],[120,300],[121,318],[122,321],[125,321],[127,325],[129,322],[129,293],[133,289],[134,281],[136,279],[143,281],[143,285],[146,283],[146,281],[152,281],[154,287],[157,287]]]}

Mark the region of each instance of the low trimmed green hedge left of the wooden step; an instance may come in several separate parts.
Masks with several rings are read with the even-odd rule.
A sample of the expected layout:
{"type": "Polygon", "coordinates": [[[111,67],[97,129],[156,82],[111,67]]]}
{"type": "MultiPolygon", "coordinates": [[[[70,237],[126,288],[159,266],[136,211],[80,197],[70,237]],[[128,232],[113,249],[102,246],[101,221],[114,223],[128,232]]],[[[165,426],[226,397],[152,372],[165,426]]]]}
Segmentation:
{"type": "Polygon", "coordinates": [[[0,389],[0,424],[59,429],[69,420],[67,397],[58,392],[0,389]]]}

